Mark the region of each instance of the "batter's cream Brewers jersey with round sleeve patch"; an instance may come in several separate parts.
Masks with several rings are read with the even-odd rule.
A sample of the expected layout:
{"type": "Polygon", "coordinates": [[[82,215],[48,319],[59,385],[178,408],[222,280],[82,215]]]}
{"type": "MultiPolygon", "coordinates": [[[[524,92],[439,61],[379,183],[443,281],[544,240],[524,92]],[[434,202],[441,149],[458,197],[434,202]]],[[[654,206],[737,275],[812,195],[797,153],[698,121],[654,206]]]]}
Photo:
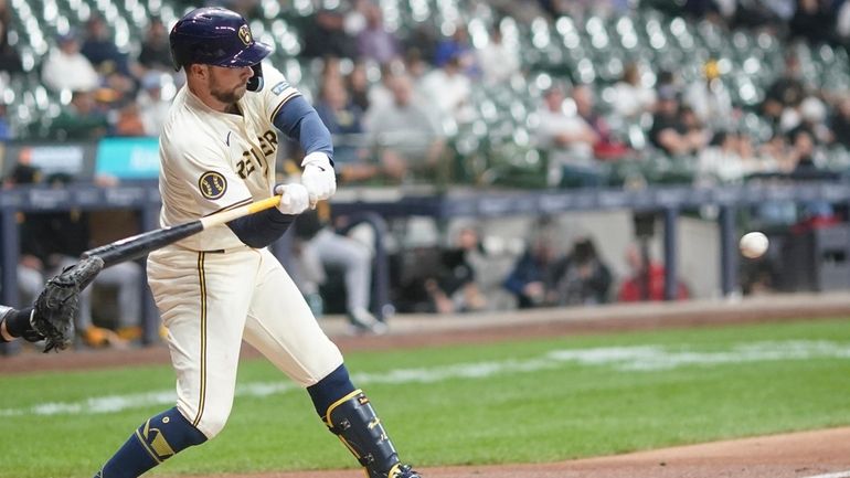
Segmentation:
{"type": "MultiPolygon", "coordinates": [[[[178,92],[159,140],[160,225],[170,226],[268,198],[279,131],[273,118],[298,91],[263,63],[265,86],[238,100],[242,115],[211,109],[188,87],[178,92]]],[[[244,244],[222,225],[177,243],[193,251],[244,244]]]]}

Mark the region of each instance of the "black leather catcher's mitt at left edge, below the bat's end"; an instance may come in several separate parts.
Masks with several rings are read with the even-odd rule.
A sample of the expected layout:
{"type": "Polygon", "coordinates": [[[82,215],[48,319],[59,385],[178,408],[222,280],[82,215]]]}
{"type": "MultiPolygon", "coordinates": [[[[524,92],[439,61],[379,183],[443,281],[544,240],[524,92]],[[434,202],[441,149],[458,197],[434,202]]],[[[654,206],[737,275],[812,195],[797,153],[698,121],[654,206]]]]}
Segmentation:
{"type": "Polygon", "coordinates": [[[32,328],[44,336],[44,352],[63,350],[71,344],[79,291],[85,289],[103,268],[104,261],[100,257],[87,257],[47,280],[44,290],[35,300],[34,314],[30,319],[32,328]]]}

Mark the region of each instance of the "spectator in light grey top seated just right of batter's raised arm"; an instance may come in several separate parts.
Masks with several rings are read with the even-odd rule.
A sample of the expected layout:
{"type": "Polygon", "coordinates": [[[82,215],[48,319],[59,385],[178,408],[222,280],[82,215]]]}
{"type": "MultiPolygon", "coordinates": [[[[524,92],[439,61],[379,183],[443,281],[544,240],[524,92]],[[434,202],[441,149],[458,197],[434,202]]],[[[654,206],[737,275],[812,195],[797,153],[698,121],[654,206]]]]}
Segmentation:
{"type": "Polygon", "coordinates": [[[414,102],[414,91],[407,75],[390,81],[393,102],[370,111],[366,130],[370,144],[379,148],[384,172],[395,180],[410,172],[425,176],[444,174],[440,158],[443,131],[428,109],[414,102]]]}

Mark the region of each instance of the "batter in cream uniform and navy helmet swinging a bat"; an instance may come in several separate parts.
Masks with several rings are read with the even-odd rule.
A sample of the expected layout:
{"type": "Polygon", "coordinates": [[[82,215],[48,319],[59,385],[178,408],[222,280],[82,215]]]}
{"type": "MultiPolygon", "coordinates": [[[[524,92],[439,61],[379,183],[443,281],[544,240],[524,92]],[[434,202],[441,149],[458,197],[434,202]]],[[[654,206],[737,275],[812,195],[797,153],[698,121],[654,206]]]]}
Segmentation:
{"type": "Polygon", "coordinates": [[[222,431],[245,340],[307,389],[316,411],[370,478],[419,478],[402,465],[339,349],[268,252],[295,216],[336,191],[328,129],[263,60],[245,19],[201,8],[171,29],[187,83],[160,137],[160,223],[179,224],[283,194],[277,208],[213,227],[148,257],[148,278],[168,328],[177,406],[151,417],[96,478],[138,477],[222,431]],[[278,131],[306,152],[301,183],[275,185],[278,131]]]}

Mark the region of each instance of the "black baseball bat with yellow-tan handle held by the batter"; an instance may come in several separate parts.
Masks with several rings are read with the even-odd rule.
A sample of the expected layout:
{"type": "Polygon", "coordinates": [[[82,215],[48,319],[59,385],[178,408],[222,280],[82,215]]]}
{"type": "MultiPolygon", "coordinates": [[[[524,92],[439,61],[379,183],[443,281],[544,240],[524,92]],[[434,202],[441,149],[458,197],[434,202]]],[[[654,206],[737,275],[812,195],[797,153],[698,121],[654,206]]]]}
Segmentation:
{"type": "Polygon", "coordinates": [[[98,256],[104,259],[104,267],[109,267],[125,261],[137,259],[151,251],[156,251],[193,234],[198,234],[203,230],[231,222],[248,214],[272,209],[277,205],[278,202],[280,202],[280,195],[273,195],[272,198],[262,201],[255,201],[251,204],[245,204],[229,211],[222,211],[195,221],[125,237],[88,249],[83,253],[83,258],[98,256]]]}

